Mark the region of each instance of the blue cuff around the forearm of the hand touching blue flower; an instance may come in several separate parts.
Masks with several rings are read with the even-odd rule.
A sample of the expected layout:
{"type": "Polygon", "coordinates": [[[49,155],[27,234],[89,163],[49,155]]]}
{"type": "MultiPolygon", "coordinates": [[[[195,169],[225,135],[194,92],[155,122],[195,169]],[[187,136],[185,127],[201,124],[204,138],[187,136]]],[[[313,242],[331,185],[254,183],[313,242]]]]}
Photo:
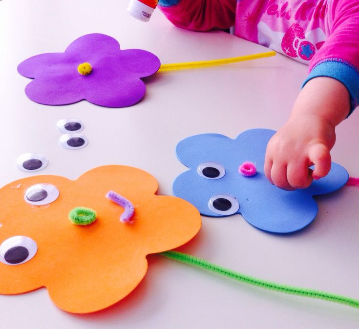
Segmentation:
{"type": "Polygon", "coordinates": [[[356,68],[337,59],[328,59],[319,62],[314,66],[308,78],[303,82],[302,88],[309,80],[317,77],[337,79],[346,86],[350,95],[350,112],[348,116],[359,105],[359,72],[356,68]]]}

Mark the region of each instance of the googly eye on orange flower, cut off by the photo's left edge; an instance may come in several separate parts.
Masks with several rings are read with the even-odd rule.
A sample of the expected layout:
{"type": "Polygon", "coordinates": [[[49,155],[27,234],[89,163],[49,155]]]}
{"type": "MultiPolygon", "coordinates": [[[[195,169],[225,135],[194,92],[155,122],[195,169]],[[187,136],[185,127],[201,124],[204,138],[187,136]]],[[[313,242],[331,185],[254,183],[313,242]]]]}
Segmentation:
{"type": "Polygon", "coordinates": [[[17,235],[6,239],[0,245],[0,262],[6,265],[20,265],[32,259],[38,246],[27,236],[17,235]]]}

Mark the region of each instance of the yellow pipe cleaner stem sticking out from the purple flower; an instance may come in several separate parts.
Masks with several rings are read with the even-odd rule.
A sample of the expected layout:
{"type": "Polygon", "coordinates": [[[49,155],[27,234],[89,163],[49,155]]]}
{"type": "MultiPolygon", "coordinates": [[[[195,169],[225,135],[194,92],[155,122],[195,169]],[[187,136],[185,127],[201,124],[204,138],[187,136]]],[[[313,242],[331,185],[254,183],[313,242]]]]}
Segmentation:
{"type": "Polygon", "coordinates": [[[162,64],[160,69],[158,70],[158,72],[189,70],[189,69],[193,69],[193,68],[216,66],[216,65],[223,65],[223,64],[229,64],[229,63],[235,63],[235,62],[251,61],[251,60],[257,60],[259,58],[275,56],[275,54],[276,54],[275,51],[268,51],[265,53],[244,55],[244,56],[231,57],[231,58],[222,58],[219,60],[162,64]]]}

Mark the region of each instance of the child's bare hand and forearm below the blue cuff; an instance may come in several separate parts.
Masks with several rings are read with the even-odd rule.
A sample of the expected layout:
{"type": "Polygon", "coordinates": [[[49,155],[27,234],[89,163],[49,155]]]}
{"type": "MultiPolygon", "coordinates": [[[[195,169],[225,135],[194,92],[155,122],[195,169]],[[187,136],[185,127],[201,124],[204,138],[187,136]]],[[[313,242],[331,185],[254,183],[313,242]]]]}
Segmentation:
{"type": "Polygon", "coordinates": [[[300,92],[287,123],[267,145],[264,172],[283,189],[308,187],[328,174],[335,127],[348,115],[349,93],[339,81],[319,77],[300,92]],[[309,169],[315,165],[314,171],[309,169]]]}

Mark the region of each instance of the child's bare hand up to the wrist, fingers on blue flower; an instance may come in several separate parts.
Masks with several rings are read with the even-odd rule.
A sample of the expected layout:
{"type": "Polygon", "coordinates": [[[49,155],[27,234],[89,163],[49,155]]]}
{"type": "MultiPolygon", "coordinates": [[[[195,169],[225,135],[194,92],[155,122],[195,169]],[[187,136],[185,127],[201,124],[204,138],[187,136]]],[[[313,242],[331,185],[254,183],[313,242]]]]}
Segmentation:
{"type": "Polygon", "coordinates": [[[328,174],[334,143],[335,127],[322,118],[291,117],[268,143],[264,165],[268,180],[286,190],[308,187],[313,178],[328,174]]]}

